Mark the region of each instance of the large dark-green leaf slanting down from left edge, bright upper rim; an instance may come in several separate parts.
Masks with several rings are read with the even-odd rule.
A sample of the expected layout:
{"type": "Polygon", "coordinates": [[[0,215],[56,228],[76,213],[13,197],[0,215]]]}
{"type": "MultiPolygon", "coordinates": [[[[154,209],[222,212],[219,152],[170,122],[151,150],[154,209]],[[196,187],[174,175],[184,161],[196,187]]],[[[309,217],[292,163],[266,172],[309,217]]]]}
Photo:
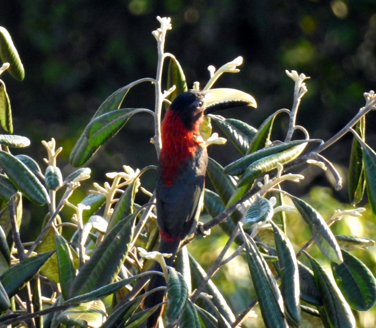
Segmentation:
{"type": "Polygon", "coordinates": [[[0,150],[0,166],[17,189],[33,203],[38,205],[50,203],[50,197],[45,187],[19,159],[0,150]]]}

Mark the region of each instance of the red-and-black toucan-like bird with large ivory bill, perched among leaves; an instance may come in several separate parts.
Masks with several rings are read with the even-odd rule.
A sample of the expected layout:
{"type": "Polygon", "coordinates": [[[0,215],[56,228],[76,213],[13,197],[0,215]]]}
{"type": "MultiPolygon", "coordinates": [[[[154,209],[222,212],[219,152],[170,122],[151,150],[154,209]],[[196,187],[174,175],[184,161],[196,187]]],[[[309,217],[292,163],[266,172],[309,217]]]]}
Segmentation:
{"type": "MultiPolygon", "coordinates": [[[[172,266],[180,243],[193,233],[199,216],[200,197],[205,184],[208,153],[200,136],[204,116],[219,109],[235,106],[256,107],[252,96],[234,89],[188,90],[172,101],[162,124],[162,148],[156,179],[157,225],[161,237],[158,251],[172,254],[165,258],[172,266]]],[[[162,271],[158,262],[150,270],[162,271]]],[[[153,275],[147,290],[166,286],[165,278],[153,275]]],[[[164,290],[148,295],[144,308],[163,301],[164,290]]],[[[147,320],[147,328],[155,328],[162,312],[157,308],[147,320]]]]}

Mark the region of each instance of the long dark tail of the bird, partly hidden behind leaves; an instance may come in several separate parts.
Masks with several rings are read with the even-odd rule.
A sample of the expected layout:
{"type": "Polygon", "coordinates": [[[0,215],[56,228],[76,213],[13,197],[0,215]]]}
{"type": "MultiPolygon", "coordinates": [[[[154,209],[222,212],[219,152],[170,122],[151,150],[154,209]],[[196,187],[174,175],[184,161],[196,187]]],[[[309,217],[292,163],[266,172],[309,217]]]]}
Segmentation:
{"type": "MultiPolygon", "coordinates": [[[[159,244],[158,251],[161,253],[172,253],[171,257],[165,257],[166,265],[172,266],[174,262],[174,258],[177,252],[177,249],[179,248],[179,240],[174,241],[167,241],[164,239],[161,239],[161,243],[159,244]]],[[[154,262],[152,267],[150,268],[150,271],[161,271],[162,268],[161,265],[159,265],[158,262],[154,262]]],[[[147,291],[152,290],[156,287],[166,286],[166,280],[161,275],[152,275],[152,278],[150,278],[149,285],[147,287],[147,291]]],[[[144,307],[145,308],[151,308],[163,301],[165,291],[164,290],[157,290],[156,292],[150,294],[147,296],[144,300],[144,307]]],[[[155,328],[158,324],[159,316],[162,312],[162,306],[157,308],[147,319],[147,328],[155,328]]]]}

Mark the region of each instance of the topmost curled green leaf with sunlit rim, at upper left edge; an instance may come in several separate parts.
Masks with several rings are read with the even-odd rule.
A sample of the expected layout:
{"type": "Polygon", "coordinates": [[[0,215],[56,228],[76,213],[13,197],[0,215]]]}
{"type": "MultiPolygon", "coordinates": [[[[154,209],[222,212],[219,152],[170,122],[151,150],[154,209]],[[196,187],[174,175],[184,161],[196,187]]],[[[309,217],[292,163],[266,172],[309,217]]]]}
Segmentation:
{"type": "Polygon", "coordinates": [[[9,63],[8,72],[18,81],[22,81],[25,77],[25,71],[18,56],[11,35],[2,26],[0,26],[0,58],[3,63],[9,63]]]}

